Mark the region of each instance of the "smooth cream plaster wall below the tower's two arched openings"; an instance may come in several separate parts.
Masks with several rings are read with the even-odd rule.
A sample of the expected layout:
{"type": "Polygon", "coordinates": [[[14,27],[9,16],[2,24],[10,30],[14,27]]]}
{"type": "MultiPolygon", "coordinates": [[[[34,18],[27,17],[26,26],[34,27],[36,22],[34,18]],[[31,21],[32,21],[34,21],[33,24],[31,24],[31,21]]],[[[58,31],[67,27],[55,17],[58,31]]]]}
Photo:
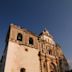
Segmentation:
{"type": "Polygon", "coordinates": [[[40,72],[38,52],[38,49],[9,41],[4,72],[20,72],[21,68],[26,72],[40,72]]]}

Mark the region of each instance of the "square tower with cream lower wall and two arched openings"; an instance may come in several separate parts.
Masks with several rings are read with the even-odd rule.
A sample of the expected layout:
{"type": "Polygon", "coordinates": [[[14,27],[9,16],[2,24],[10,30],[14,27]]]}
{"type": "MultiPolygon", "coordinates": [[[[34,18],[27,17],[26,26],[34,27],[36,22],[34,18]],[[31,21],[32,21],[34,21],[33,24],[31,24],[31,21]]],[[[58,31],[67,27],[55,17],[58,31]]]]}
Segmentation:
{"type": "Polygon", "coordinates": [[[40,72],[37,36],[25,28],[10,25],[3,72],[40,72]]]}

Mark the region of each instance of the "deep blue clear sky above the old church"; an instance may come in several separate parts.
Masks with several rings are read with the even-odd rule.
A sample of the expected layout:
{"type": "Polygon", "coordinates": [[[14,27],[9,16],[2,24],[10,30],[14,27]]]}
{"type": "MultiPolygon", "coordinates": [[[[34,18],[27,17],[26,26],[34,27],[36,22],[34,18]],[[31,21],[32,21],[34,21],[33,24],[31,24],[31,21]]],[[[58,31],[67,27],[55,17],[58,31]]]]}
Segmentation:
{"type": "Polygon", "coordinates": [[[0,0],[0,57],[10,23],[37,35],[46,27],[72,60],[72,0],[0,0]]]}

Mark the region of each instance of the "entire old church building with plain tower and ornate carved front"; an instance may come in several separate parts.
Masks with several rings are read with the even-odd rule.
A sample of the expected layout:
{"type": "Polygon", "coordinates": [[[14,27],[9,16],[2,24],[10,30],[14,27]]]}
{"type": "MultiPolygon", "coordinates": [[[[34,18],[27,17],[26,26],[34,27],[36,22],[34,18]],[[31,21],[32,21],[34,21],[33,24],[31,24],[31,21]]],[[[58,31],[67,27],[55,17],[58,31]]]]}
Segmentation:
{"type": "Polygon", "coordinates": [[[0,72],[66,72],[68,69],[61,47],[47,29],[37,36],[20,26],[9,26],[0,72]]]}

